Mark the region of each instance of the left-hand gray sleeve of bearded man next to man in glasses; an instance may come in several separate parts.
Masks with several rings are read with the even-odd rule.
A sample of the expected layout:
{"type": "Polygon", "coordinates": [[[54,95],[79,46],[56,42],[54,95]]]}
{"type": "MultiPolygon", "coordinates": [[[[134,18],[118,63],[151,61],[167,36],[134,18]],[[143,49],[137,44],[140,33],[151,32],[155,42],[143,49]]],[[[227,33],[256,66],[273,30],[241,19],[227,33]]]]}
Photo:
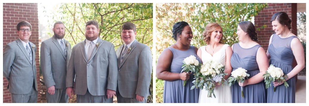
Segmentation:
{"type": "Polygon", "coordinates": [[[51,70],[51,58],[50,58],[50,48],[48,44],[45,42],[42,42],[41,44],[41,57],[40,57],[40,63],[41,63],[41,71],[44,79],[44,83],[46,87],[51,87],[56,85],[53,79],[53,74],[51,70]]]}

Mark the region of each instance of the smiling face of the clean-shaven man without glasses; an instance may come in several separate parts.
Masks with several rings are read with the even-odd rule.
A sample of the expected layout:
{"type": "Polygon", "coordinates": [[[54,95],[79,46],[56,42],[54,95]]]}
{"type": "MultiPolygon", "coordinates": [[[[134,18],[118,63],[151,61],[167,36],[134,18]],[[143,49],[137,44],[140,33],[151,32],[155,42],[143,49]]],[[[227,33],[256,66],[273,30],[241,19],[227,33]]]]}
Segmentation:
{"type": "Polygon", "coordinates": [[[125,44],[129,44],[135,40],[136,32],[132,29],[130,30],[122,30],[121,39],[125,42],[125,44]]]}

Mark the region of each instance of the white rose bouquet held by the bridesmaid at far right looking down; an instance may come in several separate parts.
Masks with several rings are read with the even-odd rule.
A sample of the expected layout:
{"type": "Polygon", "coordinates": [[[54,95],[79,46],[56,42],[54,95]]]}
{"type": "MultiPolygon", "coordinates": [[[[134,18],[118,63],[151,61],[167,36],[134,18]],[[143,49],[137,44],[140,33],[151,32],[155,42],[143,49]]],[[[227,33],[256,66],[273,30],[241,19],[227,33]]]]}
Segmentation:
{"type": "MultiPolygon", "coordinates": [[[[266,74],[263,75],[263,78],[265,79],[266,89],[270,87],[270,83],[275,80],[277,80],[279,84],[282,81],[284,82],[284,86],[286,86],[286,88],[289,87],[289,84],[286,82],[286,78],[288,78],[288,76],[283,74],[283,71],[280,68],[275,67],[272,64],[268,67],[268,70],[266,71],[266,74]]],[[[273,91],[276,91],[276,87],[273,88],[273,91]]]]}

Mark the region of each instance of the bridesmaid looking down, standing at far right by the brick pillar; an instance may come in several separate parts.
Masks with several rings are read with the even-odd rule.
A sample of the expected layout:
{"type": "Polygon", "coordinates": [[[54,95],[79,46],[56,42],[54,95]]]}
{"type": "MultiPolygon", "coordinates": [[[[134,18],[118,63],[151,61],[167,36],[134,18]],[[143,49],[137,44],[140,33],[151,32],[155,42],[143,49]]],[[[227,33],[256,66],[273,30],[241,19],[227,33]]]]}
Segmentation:
{"type": "Polygon", "coordinates": [[[291,33],[291,19],[285,12],[278,12],[273,15],[270,22],[273,25],[275,34],[270,37],[267,50],[269,64],[279,67],[284,74],[288,75],[286,88],[284,84],[277,81],[267,89],[267,103],[295,103],[295,75],[305,67],[305,56],[303,45],[297,36],[291,33]],[[297,66],[292,67],[295,58],[297,66]],[[273,91],[273,87],[276,91],[273,91]]]}

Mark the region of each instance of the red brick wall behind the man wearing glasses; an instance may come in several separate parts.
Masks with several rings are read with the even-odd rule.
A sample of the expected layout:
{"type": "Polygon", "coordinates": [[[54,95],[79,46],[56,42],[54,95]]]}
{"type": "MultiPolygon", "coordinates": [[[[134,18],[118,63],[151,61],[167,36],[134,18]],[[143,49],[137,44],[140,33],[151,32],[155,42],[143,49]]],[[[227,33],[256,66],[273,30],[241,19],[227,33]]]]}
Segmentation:
{"type": "MultiPolygon", "coordinates": [[[[3,3],[3,51],[6,44],[18,39],[16,25],[26,20],[32,25],[32,35],[29,41],[36,45],[37,83],[40,88],[39,61],[39,21],[37,3],[3,3]]],[[[8,82],[3,77],[3,103],[11,103],[11,94],[7,88],[8,82]]],[[[38,95],[40,100],[40,95],[38,95]]]]}

